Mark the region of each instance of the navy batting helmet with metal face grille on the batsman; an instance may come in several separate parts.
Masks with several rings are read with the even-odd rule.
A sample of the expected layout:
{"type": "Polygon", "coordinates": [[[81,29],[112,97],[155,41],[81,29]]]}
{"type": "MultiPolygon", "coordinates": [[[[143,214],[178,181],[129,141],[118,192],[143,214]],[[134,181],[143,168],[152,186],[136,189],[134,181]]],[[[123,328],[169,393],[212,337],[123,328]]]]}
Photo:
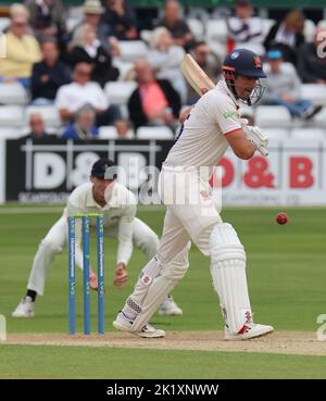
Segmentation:
{"type": "MultiPolygon", "coordinates": [[[[241,101],[243,100],[239,98],[236,90],[237,85],[235,84],[238,75],[256,79],[267,77],[263,71],[261,58],[248,49],[236,49],[228,53],[224,60],[222,71],[228,88],[236,99],[241,101]]],[[[256,103],[262,98],[264,89],[261,84],[258,84],[246,102],[249,105],[256,103]]]]}

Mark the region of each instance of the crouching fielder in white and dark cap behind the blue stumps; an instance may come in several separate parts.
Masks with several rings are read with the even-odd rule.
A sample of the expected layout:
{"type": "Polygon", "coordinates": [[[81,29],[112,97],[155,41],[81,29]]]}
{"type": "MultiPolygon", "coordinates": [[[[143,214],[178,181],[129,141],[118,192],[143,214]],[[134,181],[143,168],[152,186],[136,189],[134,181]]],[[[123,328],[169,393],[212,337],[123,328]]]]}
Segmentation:
{"type": "MultiPolygon", "coordinates": [[[[45,292],[48,271],[55,254],[60,253],[67,241],[67,217],[72,214],[102,213],[104,231],[109,237],[118,240],[114,285],[123,287],[127,281],[126,266],[133,253],[133,245],[140,249],[151,260],[156,253],[159,238],[142,221],[135,217],[137,203],[135,196],[114,177],[106,179],[105,172],[116,167],[108,159],[98,160],[91,168],[90,181],[78,186],[70,196],[66,208],[60,220],[50,228],[41,240],[35,255],[26,296],[22,299],[13,317],[33,317],[35,315],[36,296],[45,292]]],[[[96,221],[90,218],[90,230],[95,233],[96,221]]],[[[82,222],[76,221],[76,264],[83,270],[82,222]]],[[[176,263],[188,264],[187,250],[176,263]]],[[[90,272],[90,288],[98,289],[95,272],[90,272]]],[[[159,313],[162,315],[180,315],[183,311],[171,296],[162,302],[159,313]]],[[[139,334],[151,337],[150,325],[139,334]]]]}

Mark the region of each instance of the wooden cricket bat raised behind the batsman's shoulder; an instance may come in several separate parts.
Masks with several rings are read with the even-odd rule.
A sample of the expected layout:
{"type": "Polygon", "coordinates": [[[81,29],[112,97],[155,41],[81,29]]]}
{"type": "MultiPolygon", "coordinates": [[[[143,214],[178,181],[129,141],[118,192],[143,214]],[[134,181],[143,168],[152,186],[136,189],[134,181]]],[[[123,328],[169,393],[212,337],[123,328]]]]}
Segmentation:
{"type": "Polygon", "coordinates": [[[215,84],[201,70],[190,54],[186,54],[180,64],[180,71],[189,85],[202,96],[206,90],[215,88],[215,84]]]}

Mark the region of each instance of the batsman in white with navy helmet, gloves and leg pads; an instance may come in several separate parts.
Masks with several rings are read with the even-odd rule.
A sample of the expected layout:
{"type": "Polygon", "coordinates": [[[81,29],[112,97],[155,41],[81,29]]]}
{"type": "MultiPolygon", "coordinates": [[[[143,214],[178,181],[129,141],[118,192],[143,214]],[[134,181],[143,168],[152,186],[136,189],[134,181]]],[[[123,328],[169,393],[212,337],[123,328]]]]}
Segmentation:
{"type": "Polygon", "coordinates": [[[243,160],[255,150],[267,154],[267,139],[258,127],[242,127],[238,114],[239,101],[251,105],[262,97],[259,78],[265,74],[260,58],[244,49],[226,57],[223,74],[224,79],[191,110],[163,164],[159,186],[167,211],[159,251],[142,270],[134,292],[113,322],[117,329],[131,334],[142,329],[185,275],[183,263],[177,262],[192,240],[211,258],[213,286],[225,318],[225,339],[249,339],[273,331],[272,326],[252,321],[246,252],[234,227],[217,213],[209,186],[210,168],[218,164],[228,146],[243,160]]]}

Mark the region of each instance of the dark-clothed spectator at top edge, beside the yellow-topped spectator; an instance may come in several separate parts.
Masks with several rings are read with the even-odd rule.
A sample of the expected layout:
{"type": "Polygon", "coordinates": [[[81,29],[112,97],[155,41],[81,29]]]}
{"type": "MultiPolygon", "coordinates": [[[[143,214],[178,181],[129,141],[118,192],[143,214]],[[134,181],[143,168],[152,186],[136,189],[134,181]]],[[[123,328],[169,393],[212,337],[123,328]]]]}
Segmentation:
{"type": "Polygon", "coordinates": [[[66,34],[66,14],[61,0],[25,0],[30,13],[30,25],[38,38],[66,34]]]}

